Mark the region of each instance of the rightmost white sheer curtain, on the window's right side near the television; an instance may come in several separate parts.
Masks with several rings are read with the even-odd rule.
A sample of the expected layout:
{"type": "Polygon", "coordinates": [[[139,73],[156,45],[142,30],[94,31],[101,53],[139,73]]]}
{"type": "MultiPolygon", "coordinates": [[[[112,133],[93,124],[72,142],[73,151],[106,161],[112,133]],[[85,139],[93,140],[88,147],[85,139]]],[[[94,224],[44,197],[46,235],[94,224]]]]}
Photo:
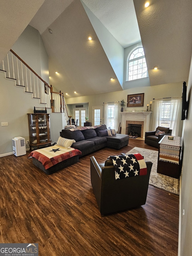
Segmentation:
{"type": "Polygon", "coordinates": [[[179,122],[181,119],[182,97],[171,98],[171,111],[170,111],[170,129],[172,129],[172,135],[178,136],[179,122]]]}

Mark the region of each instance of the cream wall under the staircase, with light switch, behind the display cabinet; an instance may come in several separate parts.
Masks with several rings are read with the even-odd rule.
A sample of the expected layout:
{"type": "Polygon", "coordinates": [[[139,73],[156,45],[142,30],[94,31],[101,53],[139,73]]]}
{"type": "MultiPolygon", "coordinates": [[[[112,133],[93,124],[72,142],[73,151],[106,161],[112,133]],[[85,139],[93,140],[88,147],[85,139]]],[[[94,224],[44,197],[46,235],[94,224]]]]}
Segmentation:
{"type": "Polygon", "coordinates": [[[23,137],[29,140],[27,113],[33,113],[35,107],[45,107],[39,104],[38,99],[32,99],[30,93],[24,92],[23,87],[15,86],[15,80],[5,79],[4,72],[0,71],[0,123],[8,122],[8,126],[0,125],[0,156],[13,151],[14,137],[23,137]]]}

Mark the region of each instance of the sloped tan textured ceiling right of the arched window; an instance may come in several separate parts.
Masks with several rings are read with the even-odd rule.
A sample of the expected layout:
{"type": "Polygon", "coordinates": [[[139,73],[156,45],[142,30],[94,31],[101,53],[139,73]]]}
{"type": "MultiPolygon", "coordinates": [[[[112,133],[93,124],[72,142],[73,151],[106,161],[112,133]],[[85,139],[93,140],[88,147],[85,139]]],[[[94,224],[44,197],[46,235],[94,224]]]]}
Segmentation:
{"type": "Polygon", "coordinates": [[[151,86],[188,79],[192,50],[192,1],[134,0],[151,86]],[[158,66],[158,70],[154,70],[158,66]]]}

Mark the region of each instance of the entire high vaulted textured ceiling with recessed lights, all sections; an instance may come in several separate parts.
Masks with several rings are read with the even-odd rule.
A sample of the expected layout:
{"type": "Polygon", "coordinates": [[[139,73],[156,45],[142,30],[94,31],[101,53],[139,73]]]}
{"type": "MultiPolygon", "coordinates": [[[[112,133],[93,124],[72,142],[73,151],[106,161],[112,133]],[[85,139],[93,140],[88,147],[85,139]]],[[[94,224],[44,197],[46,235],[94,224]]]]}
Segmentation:
{"type": "MultiPolygon", "coordinates": [[[[11,1],[14,8],[10,9],[3,1],[0,22],[6,36],[2,37],[0,58],[35,14],[29,24],[38,29],[43,38],[49,56],[50,83],[56,89],[67,92],[66,97],[122,90],[125,83],[120,81],[117,67],[112,65],[101,43],[101,35],[90,22],[86,8],[83,8],[85,4],[95,15],[95,20],[98,19],[108,30],[106,34],[110,32],[122,49],[142,41],[151,86],[188,79],[192,50],[191,0],[150,0],[148,8],[144,8],[144,1],[140,0],[82,1],[38,1],[39,6],[34,4],[36,10],[39,8],[36,14],[35,6],[29,5],[30,1],[18,0],[17,5],[11,1]],[[13,11],[25,15],[11,15],[13,11]],[[11,23],[5,27],[8,17],[11,17],[11,23]],[[87,40],[88,35],[92,36],[92,41],[87,40]],[[154,66],[158,66],[157,71],[153,70],[154,66]],[[55,71],[59,74],[56,75],[55,71]],[[110,77],[115,78],[113,83],[110,77]]],[[[105,33],[102,36],[104,38],[105,33]]],[[[110,46],[111,42],[106,44],[110,46]]],[[[131,82],[126,86],[132,86],[131,82]]]]}

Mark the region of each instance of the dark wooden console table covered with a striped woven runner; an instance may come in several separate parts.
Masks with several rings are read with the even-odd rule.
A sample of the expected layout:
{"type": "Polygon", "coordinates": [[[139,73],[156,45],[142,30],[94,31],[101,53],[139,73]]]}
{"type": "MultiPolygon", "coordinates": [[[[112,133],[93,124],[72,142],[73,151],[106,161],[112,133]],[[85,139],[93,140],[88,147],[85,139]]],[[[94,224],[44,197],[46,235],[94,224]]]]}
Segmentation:
{"type": "Polygon", "coordinates": [[[173,140],[168,140],[168,135],[165,135],[159,144],[157,173],[179,179],[181,137],[174,136],[173,140]]]}

